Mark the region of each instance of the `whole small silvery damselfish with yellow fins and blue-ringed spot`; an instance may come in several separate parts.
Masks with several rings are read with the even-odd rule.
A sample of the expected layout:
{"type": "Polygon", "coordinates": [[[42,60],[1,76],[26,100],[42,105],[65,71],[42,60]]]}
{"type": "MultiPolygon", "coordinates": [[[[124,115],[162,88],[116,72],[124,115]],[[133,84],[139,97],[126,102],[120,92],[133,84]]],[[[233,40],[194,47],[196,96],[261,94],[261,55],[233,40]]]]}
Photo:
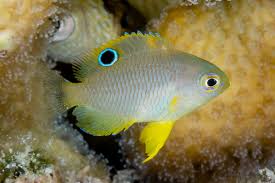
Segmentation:
{"type": "Polygon", "coordinates": [[[164,146],[178,119],[230,85],[217,66],[178,51],[157,34],[141,32],[76,57],[73,74],[79,82],[62,82],[56,97],[64,109],[75,107],[76,125],[107,136],[148,123],[139,139],[145,144],[144,163],[164,146]]]}

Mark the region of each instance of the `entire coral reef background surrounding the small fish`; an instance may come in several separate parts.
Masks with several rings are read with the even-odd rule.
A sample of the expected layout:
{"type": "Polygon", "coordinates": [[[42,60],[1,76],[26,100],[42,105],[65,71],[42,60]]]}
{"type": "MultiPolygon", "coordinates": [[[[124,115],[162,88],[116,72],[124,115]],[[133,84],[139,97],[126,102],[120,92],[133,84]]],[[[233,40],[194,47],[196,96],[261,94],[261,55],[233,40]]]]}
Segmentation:
{"type": "Polygon", "coordinates": [[[0,0],[0,182],[275,182],[274,0],[0,0]],[[157,32],[231,86],[143,164],[142,124],[94,137],[47,87],[124,32],[157,32]]]}

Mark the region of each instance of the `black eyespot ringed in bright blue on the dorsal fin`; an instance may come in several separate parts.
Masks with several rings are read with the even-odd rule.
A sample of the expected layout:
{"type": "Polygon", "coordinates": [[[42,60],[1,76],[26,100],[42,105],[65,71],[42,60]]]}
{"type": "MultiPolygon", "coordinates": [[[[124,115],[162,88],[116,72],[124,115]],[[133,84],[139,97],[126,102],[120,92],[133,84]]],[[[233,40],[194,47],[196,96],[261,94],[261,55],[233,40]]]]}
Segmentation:
{"type": "Polygon", "coordinates": [[[116,50],[107,48],[103,50],[98,56],[98,63],[101,66],[112,66],[118,60],[118,53],[116,50]]]}

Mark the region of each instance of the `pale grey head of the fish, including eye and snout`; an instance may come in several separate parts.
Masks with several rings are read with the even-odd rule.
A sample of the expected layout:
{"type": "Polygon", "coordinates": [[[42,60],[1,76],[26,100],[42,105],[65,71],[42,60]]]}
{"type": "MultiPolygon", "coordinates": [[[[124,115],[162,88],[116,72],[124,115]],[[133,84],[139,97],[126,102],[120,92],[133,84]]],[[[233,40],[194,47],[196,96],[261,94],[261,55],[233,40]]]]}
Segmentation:
{"type": "Polygon", "coordinates": [[[230,86],[227,75],[216,65],[186,53],[179,54],[178,60],[181,69],[176,88],[183,99],[181,107],[185,113],[207,103],[230,86]]]}

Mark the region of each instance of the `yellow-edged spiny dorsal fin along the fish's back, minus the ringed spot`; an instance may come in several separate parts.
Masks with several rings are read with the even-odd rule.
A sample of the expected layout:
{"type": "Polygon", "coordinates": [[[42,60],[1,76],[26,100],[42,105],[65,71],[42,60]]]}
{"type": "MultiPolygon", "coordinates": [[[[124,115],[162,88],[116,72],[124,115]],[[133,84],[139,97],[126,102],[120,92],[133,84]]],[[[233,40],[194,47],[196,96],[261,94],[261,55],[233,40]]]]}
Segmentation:
{"type": "Polygon", "coordinates": [[[119,55],[118,61],[121,61],[123,57],[125,58],[143,51],[168,49],[169,44],[159,34],[151,32],[149,34],[141,32],[125,33],[123,36],[85,52],[80,57],[74,59],[74,74],[79,81],[83,81],[89,73],[104,69],[104,67],[98,64],[98,56],[106,48],[116,50],[119,55]]]}

